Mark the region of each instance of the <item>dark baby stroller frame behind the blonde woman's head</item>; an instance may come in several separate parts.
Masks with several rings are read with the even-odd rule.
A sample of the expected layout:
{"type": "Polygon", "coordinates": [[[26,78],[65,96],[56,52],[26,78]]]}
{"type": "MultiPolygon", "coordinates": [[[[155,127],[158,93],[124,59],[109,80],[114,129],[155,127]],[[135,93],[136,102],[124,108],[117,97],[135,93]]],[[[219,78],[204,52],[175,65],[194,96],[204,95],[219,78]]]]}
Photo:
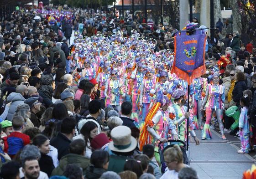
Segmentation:
{"type": "MultiPolygon", "coordinates": [[[[175,144],[178,144],[180,146],[180,143],[183,144],[183,146],[180,146],[182,152],[183,152],[183,163],[184,164],[188,164],[190,163],[190,157],[188,157],[188,154],[187,154],[187,151],[186,151],[186,143],[181,141],[181,140],[168,140],[168,143],[170,143],[168,146],[166,146],[165,148],[161,148],[161,144],[162,142],[160,142],[158,144],[158,152],[159,152],[159,155],[160,155],[160,164],[161,164],[161,172],[162,174],[165,172],[165,169],[166,169],[166,164],[164,162],[164,158],[163,158],[163,152],[167,149],[167,148],[170,148],[170,147],[173,147],[173,145],[175,144]]],[[[188,153],[189,153],[189,149],[188,149],[188,153]]]]}

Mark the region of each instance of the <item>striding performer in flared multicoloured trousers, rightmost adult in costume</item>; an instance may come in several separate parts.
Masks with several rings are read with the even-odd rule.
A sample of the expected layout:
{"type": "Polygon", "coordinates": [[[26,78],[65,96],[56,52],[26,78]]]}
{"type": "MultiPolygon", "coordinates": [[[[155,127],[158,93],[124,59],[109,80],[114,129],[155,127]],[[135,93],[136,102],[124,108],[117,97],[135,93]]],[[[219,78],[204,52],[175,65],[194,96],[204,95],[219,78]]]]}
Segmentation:
{"type": "Polygon", "coordinates": [[[213,84],[208,84],[205,92],[205,98],[201,107],[201,111],[204,110],[206,113],[206,122],[202,130],[202,139],[211,139],[212,134],[210,131],[209,123],[212,119],[212,115],[215,112],[216,118],[219,123],[219,129],[222,135],[223,140],[227,140],[224,135],[224,127],[222,122],[222,113],[225,102],[225,87],[219,85],[219,74],[214,73],[210,75],[209,78],[212,78],[213,84]]]}

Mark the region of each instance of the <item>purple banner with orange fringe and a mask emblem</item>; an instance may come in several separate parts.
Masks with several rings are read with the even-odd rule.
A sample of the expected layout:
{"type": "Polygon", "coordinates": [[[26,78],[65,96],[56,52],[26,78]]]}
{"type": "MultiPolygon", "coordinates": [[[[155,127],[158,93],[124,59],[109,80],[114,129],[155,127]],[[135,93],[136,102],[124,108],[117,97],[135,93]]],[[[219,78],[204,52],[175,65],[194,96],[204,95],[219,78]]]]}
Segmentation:
{"type": "Polygon", "coordinates": [[[186,31],[177,33],[174,37],[175,57],[171,73],[175,73],[190,85],[194,78],[204,74],[206,35],[202,30],[197,30],[194,35],[187,35],[186,31]]]}

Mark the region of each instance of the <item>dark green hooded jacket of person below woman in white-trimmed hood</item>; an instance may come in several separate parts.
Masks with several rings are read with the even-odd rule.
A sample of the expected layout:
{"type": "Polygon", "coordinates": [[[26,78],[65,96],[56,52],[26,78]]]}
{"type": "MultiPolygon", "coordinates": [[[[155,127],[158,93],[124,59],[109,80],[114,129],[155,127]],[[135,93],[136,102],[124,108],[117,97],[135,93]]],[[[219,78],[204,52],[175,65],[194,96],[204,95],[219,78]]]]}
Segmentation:
{"type": "Polygon", "coordinates": [[[57,166],[57,168],[55,168],[52,171],[51,176],[63,175],[63,172],[64,172],[67,164],[78,164],[78,166],[83,169],[83,173],[85,175],[85,171],[86,171],[86,168],[90,164],[90,160],[85,158],[83,155],[78,155],[78,154],[74,154],[74,153],[68,153],[67,155],[63,156],[60,159],[59,166],[57,166]]]}

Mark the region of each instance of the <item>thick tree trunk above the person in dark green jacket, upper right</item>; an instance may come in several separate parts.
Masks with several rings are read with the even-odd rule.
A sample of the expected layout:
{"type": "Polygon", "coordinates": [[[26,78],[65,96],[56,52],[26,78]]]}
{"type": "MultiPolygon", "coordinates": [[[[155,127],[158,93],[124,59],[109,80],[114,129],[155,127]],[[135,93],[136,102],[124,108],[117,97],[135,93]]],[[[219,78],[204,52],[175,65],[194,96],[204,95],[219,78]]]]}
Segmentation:
{"type": "Polygon", "coordinates": [[[239,33],[241,33],[241,16],[238,7],[238,1],[242,3],[242,0],[231,0],[230,5],[233,15],[233,31],[238,31],[239,33]]]}

